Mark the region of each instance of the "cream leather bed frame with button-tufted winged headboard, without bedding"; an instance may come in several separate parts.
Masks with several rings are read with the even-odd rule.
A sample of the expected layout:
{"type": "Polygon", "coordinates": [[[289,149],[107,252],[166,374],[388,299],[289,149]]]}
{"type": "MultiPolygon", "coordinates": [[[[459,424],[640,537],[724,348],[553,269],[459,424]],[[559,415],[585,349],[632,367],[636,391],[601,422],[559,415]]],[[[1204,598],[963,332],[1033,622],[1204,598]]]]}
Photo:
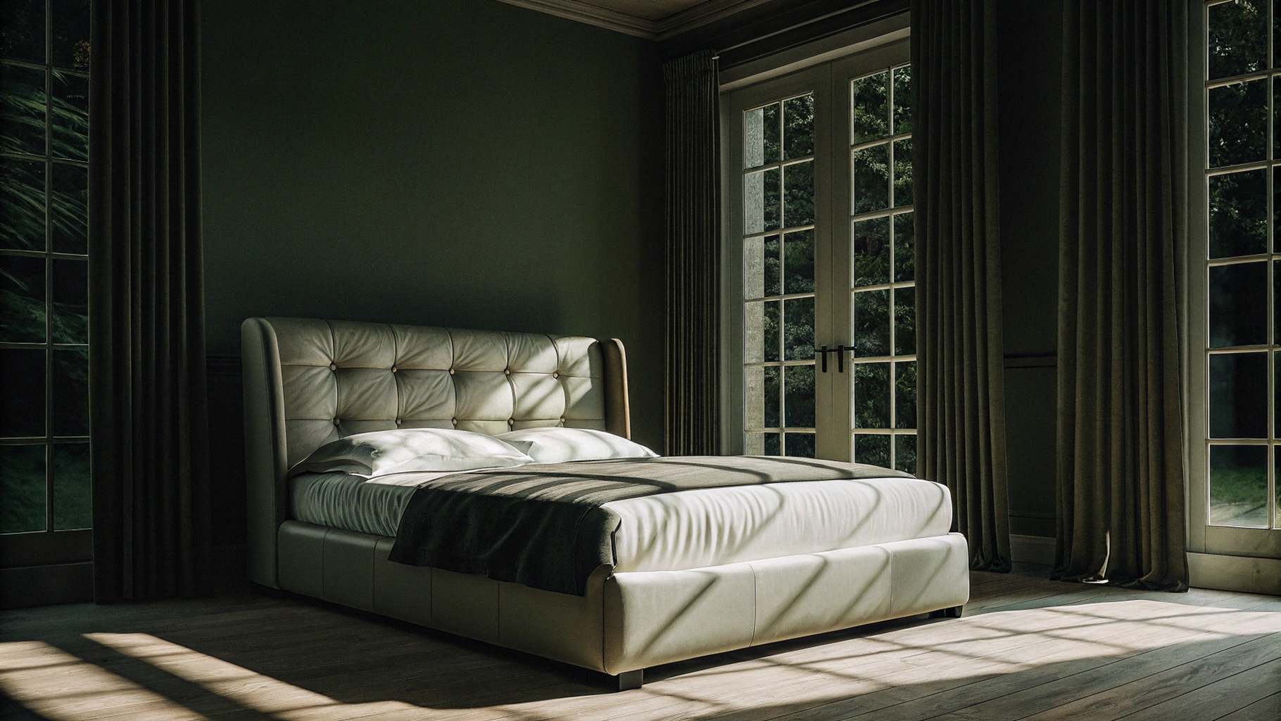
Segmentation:
{"type": "Polygon", "coordinates": [[[387,560],[393,539],[288,517],[287,470],[352,433],[575,426],[630,437],[619,341],[251,318],[242,332],[254,583],[616,675],[968,601],[958,534],[679,571],[584,597],[387,560]]]}

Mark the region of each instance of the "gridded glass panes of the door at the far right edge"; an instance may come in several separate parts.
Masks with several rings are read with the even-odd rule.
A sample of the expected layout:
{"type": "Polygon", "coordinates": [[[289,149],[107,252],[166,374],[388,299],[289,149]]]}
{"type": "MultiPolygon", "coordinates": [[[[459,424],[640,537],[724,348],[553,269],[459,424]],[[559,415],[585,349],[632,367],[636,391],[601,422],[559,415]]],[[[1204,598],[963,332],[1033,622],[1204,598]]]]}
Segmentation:
{"type": "Polygon", "coordinates": [[[1276,528],[1277,186],[1271,3],[1207,4],[1204,263],[1208,524],[1276,528]],[[1269,91],[1271,90],[1271,91],[1269,91]]]}

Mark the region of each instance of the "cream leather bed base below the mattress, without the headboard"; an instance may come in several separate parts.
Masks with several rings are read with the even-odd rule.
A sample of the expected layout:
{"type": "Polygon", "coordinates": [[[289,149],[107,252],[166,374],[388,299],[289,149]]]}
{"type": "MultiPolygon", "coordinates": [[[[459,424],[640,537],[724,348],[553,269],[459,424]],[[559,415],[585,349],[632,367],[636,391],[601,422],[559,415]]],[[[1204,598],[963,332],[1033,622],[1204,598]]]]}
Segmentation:
{"type": "Polygon", "coordinates": [[[279,587],[611,675],[965,604],[951,533],[683,571],[610,574],[585,597],[387,560],[392,538],[284,521],[279,587]]]}

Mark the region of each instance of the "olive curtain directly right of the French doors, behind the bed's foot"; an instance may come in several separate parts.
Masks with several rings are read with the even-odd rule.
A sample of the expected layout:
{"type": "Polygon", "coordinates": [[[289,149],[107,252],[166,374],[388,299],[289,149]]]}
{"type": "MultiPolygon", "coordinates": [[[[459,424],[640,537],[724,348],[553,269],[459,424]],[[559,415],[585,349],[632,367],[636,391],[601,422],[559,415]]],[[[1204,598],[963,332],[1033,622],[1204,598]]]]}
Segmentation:
{"type": "Polygon", "coordinates": [[[917,474],[971,567],[1008,571],[994,4],[912,1],[917,474]]]}

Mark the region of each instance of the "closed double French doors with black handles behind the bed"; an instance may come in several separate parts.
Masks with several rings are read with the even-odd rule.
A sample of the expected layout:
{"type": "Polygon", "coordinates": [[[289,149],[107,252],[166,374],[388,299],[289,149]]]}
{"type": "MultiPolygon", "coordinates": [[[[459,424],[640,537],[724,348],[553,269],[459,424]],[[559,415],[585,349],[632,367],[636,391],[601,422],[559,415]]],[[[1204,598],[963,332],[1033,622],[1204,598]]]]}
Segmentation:
{"type": "Polygon", "coordinates": [[[726,452],[916,470],[906,40],[728,95],[726,452]]]}

